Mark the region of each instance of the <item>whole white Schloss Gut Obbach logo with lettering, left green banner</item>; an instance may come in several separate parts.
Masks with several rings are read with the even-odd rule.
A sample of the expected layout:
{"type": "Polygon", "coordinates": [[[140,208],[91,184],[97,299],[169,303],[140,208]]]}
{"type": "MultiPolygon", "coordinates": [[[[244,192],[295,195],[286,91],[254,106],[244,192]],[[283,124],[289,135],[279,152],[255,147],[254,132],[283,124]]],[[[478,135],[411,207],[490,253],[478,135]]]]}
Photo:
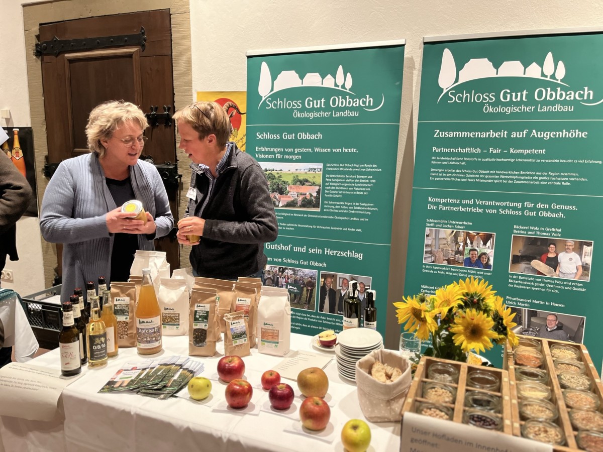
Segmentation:
{"type": "Polygon", "coordinates": [[[370,95],[358,96],[352,92],[352,84],[352,74],[347,72],[344,75],[341,64],[339,64],[334,78],[330,74],[323,78],[318,72],[308,72],[302,79],[295,71],[281,71],[273,81],[268,64],[262,61],[259,83],[257,84],[257,92],[262,96],[262,100],[257,104],[257,108],[259,109],[264,104],[267,110],[293,110],[294,118],[313,119],[359,116],[359,108],[366,111],[376,111],[383,106],[385,102],[383,94],[381,95],[380,104],[377,105],[378,101],[375,101],[370,95]],[[308,96],[303,100],[291,100],[280,95],[274,96],[279,91],[309,87],[339,90],[343,93],[318,98],[308,96]],[[312,111],[300,111],[301,108],[312,108],[312,111]],[[327,111],[328,109],[330,111],[327,111]]]}

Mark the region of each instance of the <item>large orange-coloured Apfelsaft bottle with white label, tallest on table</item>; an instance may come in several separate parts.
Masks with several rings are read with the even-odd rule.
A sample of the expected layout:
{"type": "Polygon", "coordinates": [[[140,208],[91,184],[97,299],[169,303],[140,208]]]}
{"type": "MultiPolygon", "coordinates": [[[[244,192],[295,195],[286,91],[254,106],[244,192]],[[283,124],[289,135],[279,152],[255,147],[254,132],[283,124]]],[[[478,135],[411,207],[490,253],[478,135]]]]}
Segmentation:
{"type": "Polygon", "coordinates": [[[138,353],[150,355],[163,350],[161,329],[161,309],[155,295],[151,270],[144,268],[136,306],[136,348],[138,353]]]}

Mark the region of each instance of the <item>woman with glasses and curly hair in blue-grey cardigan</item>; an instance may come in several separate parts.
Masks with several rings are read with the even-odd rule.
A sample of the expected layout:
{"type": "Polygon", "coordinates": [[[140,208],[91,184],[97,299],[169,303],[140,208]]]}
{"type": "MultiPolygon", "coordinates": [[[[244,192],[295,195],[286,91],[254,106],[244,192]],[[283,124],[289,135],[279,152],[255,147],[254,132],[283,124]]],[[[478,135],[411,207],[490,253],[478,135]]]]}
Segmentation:
{"type": "Polygon", "coordinates": [[[62,301],[99,276],[127,281],[136,250],[154,250],[153,239],[174,226],[159,172],[139,160],[147,127],[130,102],[98,105],[86,125],[90,154],[62,162],[46,187],[40,230],[48,242],[65,245],[62,301]],[[142,202],[146,222],[121,212],[131,199],[142,202]]]}

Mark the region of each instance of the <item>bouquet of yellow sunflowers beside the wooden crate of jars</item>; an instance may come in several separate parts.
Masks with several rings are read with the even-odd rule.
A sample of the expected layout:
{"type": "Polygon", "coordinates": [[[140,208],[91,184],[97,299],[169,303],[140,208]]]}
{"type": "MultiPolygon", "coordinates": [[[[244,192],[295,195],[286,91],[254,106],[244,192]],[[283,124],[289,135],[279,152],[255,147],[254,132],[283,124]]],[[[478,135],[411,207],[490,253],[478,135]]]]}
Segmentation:
{"type": "Polygon", "coordinates": [[[517,345],[511,313],[487,281],[459,280],[435,291],[394,303],[399,324],[421,340],[431,337],[426,356],[466,362],[470,351],[485,351],[507,339],[517,345]]]}

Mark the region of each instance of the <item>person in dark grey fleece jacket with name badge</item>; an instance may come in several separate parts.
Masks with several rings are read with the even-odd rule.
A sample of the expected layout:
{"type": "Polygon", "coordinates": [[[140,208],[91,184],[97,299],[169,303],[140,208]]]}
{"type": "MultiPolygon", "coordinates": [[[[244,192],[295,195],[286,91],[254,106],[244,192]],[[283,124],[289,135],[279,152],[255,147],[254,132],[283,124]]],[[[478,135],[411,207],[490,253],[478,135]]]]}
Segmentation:
{"type": "Polygon", "coordinates": [[[185,218],[178,242],[191,245],[195,276],[261,277],[264,243],[278,227],[268,181],[258,163],[229,141],[230,119],[216,102],[195,102],[174,113],[180,149],[192,160],[185,218]],[[199,236],[197,242],[187,237],[199,236]]]}

